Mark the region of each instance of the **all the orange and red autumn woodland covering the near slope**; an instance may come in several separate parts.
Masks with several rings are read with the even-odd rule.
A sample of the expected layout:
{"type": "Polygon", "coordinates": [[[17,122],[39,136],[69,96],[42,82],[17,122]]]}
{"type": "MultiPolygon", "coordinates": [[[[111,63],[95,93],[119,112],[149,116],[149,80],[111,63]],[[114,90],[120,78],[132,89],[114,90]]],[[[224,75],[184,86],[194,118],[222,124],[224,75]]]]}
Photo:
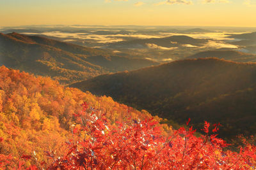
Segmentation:
{"type": "Polygon", "coordinates": [[[256,147],[225,150],[219,124],[173,130],[159,117],[0,67],[1,169],[255,169],[256,147]]]}

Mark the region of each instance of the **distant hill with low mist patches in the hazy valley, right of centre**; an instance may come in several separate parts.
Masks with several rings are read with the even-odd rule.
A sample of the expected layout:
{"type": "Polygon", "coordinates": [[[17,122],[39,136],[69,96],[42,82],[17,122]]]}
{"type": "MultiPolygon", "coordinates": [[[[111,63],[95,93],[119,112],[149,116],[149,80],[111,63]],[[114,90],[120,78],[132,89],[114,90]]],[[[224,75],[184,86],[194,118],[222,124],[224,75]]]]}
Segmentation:
{"type": "Polygon", "coordinates": [[[149,48],[157,45],[165,48],[179,47],[182,45],[203,46],[208,39],[191,38],[189,36],[170,36],[166,38],[133,39],[111,43],[106,48],[149,48]]]}

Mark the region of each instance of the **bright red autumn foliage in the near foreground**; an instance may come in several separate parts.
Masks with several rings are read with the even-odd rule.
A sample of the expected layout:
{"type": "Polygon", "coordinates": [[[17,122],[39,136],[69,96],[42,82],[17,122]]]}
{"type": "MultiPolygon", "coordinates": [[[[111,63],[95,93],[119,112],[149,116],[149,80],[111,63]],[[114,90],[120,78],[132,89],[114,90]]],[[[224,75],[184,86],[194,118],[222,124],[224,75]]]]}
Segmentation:
{"type": "MultiPolygon", "coordinates": [[[[194,135],[193,127],[181,127],[168,138],[152,119],[129,120],[109,125],[104,115],[83,104],[74,114],[80,124],[72,125],[64,157],[46,152],[51,165],[23,155],[16,168],[24,169],[26,160],[35,159],[30,169],[255,169],[256,147],[244,141],[239,152],[225,150],[227,143],[217,138],[218,125],[205,122],[205,135],[194,135]],[[210,131],[211,129],[211,131],[210,131]]],[[[187,125],[189,121],[187,122],[187,125]]],[[[1,157],[1,168],[11,165],[11,156],[1,157]]],[[[15,167],[15,166],[13,166],[15,167]]]]}

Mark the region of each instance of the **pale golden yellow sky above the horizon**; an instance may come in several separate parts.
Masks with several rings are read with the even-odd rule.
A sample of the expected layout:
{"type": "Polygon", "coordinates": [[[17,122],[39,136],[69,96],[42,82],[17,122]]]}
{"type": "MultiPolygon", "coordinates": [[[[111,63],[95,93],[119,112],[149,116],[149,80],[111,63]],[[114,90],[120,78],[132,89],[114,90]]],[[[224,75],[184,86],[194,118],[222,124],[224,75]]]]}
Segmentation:
{"type": "Polygon", "coordinates": [[[0,27],[197,25],[256,27],[256,0],[0,0],[0,27]]]}

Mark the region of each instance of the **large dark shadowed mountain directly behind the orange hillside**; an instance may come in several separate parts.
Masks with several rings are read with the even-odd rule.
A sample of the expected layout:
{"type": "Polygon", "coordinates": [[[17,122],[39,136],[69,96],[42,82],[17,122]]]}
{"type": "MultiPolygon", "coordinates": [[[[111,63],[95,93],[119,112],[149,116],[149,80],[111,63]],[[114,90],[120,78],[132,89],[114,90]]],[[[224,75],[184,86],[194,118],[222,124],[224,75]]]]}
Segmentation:
{"type": "Polygon", "coordinates": [[[223,124],[220,136],[256,132],[256,64],[220,59],[178,60],[136,71],[105,74],[74,83],[182,124],[191,118],[223,124]]]}

